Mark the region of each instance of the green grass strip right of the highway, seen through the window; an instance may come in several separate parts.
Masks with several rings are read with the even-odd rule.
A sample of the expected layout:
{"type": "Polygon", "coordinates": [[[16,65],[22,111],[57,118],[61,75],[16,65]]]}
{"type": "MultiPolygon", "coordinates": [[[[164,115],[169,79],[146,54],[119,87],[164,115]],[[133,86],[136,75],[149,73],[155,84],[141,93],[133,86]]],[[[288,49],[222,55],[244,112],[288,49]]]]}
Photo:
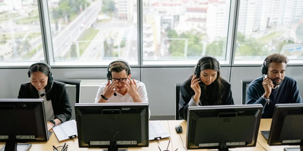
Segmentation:
{"type": "MultiPolygon", "coordinates": [[[[95,28],[88,28],[88,30],[86,30],[81,37],[78,39],[78,41],[88,41],[88,40],[93,40],[94,37],[98,34],[99,30],[95,29],[95,28]]],[[[88,45],[91,42],[80,42],[79,43],[79,53],[80,56],[82,55],[82,53],[84,52],[84,50],[88,47],[88,45]]]]}

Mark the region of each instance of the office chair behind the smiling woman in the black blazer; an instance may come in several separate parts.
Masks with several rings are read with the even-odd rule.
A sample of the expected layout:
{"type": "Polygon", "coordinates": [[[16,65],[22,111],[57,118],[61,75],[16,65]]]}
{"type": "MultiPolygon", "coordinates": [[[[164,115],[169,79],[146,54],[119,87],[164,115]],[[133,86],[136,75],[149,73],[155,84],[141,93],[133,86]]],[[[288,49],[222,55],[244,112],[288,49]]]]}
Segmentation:
{"type": "Polygon", "coordinates": [[[80,84],[81,80],[72,80],[72,79],[54,79],[58,82],[63,82],[66,85],[66,90],[69,96],[69,101],[72,105],[72,117],[69,120],[75,119],[75,103],[80,102],[80,84]]]}

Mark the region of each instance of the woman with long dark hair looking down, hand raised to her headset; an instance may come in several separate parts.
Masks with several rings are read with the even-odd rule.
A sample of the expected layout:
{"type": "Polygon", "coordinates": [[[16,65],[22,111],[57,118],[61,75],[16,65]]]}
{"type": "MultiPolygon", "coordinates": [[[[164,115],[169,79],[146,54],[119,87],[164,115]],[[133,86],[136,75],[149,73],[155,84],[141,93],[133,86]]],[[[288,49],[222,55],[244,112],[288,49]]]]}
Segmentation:
{"type": "Polygon", "coordinates": [[[202,57],[194,74],[180,87],[179,115],[187,120],[189,106],[234,104],[230,83],[220,76],[219,61],[213,56],[202,57]]]}

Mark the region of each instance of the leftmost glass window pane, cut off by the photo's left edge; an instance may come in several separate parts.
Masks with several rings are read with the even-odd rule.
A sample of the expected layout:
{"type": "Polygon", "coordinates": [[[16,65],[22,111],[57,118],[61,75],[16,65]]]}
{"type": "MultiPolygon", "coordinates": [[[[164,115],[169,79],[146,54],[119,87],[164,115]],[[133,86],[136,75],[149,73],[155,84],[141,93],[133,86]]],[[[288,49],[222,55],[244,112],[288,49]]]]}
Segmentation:
{"type": "Polygon", "coordinates": [[[0,61],[44,60],[37,1],[0,1],[0,61]]]}

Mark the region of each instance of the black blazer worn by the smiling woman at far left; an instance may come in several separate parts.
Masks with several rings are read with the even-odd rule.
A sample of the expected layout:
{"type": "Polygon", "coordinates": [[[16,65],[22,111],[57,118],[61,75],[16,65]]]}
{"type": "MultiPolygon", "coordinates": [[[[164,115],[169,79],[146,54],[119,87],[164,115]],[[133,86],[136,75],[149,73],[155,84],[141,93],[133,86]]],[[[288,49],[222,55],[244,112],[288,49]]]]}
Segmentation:
{"type": "MultiPolygon", "coordinates": [[[[34,93],[31,94],[30,85],[31,82],[21,84],[18,98],[39,98],[38,90],[34,86],[32,86],[34,93]]],[[[55,118],[61,120],[62,123],[69,120],[72,117],[72,105],[65,84],[54,81],[47,95],[51,98],[55,118]]]]}

